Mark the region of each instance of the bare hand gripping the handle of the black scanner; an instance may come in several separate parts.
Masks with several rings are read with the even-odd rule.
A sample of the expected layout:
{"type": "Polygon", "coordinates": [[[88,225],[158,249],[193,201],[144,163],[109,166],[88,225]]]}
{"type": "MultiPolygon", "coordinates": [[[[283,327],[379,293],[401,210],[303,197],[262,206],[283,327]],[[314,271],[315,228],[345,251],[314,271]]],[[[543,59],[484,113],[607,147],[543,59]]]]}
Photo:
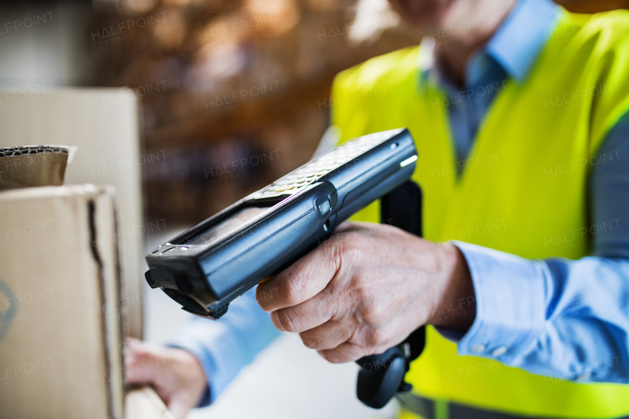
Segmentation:
{"type": "Polygon", "coordinates": [[[454,245],[388,225],[339,227],[330,240],[258,286],[257,301],[279,330],[299,333],[331,362],[347,362],[384,352],[428,321],[451,326],[449,318],[435,317],[437,308],[467,297],[471,288],[454,245]]]}

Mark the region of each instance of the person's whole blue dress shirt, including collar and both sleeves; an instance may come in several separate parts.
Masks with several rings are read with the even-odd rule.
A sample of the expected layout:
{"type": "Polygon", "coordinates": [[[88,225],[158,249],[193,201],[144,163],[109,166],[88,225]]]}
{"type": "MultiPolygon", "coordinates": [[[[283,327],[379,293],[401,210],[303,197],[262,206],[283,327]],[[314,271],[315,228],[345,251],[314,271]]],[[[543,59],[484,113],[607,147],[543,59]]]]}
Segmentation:
{"type": "MultiPolygon", "coordinates": [[[[562,9],[549,0],[521,0],[489,43],[467,65],[464,91],[522,82],[557,24],[562,9]]],[[[449,109],[459,160],[501,89],[460,94],[437,67],[425,70],[460,101],[449,109]]],[[[589,180],[592,256],[528,260],[454,242],[469,265],[477,296],[476,320],[458,340],[460,355],[499,359],[534,374],[583,381],[629,383],[629,115],[608,133],[589,180]],[[591,230],[594,230],[591,228],[591,230]],[[499,290],[496,293],[496,290],[499,290]],[[484,297],[484,298],[483,298],[484,297]]],[[[220,321],[192,320],[170,344],[203,364],[207,405],[279,332],[255,301],[255,290],[230,305],[220,321]]]]}

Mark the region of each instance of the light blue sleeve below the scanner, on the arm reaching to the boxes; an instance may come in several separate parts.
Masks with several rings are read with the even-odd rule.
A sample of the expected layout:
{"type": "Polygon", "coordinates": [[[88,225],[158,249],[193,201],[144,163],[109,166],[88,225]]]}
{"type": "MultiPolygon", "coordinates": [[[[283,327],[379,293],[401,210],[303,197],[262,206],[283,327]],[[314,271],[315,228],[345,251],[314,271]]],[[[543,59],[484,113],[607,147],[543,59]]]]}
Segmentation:
{"type": "Polygon", "coordinates": [[[208,379],[208,389],[199,403],[207,406],[250,364],[253,357],[280,332],[255,300],[255,288],[235,299],[220,320],[194,318],[181,328],[168,345],[197,357],[208,379]]]}

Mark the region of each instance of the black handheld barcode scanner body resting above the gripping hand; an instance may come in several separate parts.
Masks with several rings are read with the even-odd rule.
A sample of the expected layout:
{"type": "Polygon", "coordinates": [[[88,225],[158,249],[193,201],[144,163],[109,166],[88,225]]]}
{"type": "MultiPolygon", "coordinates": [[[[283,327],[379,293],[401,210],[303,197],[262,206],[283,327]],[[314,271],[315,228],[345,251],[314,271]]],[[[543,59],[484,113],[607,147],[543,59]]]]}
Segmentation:
{"type": "Polygon", "coordinates": [[[152,250],[147,282],[183,310],[216,320],[231,301],[406,182],[416,160],[405,128],[343,143],[152,250]]]}

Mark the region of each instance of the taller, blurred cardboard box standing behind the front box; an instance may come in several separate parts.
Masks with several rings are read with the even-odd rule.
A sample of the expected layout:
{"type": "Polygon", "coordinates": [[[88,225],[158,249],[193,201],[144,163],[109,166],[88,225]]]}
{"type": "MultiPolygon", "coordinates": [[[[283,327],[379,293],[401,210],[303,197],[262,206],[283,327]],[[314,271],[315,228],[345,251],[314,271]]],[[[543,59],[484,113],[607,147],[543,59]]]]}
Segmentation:
{"type": "MultiPolygon", "coordinates": [[[[0,147],[77,145],[65,183],[116,188],[128,333],[142,338],[142,242],[147,223],[142,220],[141,172],[149,161],[164,159],[165,152],[149,157],[140,154],[138,99],[131,89],[37,86],[25,94],[18,92],[0,89],[0,147]]],[[[165,223],[152,221],[153,225],[165,223]]]]}

